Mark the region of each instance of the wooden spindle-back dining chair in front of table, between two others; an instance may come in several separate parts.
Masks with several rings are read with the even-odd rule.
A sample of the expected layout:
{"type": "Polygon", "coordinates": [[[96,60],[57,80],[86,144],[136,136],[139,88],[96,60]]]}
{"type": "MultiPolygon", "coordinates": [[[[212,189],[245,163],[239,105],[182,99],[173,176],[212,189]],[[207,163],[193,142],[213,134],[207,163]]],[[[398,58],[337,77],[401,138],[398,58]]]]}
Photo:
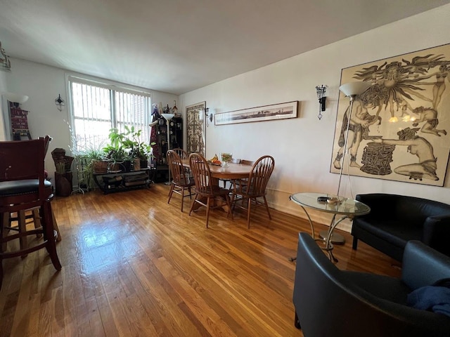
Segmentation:
{"type": "Polygon", "coordinates": [[[192,153],[189,156],[189,166],[191,166],[191,171],[195,180],[195,199],[191,205],[191,211],[189,211],[189,216],[195,204],[200,204],[206,207],[206,227],[210,221],[210,209],[224,206],[228,206],[227,217],[231,216],[233,220],[233,213],[231,213],[231,200],[229,196],[229,190],[219,187],[217,180],[213,180],[211,176],[210,166],[208,166],[207,160],[198,153],[192,153]],[[219,201],[215,204],[215,201],[219,201]]]}

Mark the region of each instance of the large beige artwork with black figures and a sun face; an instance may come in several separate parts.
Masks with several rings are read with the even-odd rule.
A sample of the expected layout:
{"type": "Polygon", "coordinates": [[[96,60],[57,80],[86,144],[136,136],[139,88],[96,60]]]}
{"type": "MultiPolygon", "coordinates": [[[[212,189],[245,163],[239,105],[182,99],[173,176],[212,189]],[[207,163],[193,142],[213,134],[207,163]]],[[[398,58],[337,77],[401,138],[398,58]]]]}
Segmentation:
{"type": "Polygon", "coordinates": [[[443,186],[449,75],[450,44],[342,69],[341,85],[371,86],[356,96],[351,112],[340,93],[330,172],[443,186]]]}

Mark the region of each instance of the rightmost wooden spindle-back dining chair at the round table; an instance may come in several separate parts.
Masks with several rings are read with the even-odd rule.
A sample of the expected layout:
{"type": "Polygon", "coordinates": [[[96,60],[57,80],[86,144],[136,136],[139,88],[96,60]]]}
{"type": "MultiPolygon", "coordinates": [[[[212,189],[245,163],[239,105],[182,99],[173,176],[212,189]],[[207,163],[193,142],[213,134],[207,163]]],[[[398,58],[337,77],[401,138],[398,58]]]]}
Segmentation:
{"type": "Polygon", "coordinates": [[[250,213],[252,207],[266,206],[267,214],[271,219],[269,206],[266,200],[266,187],[270,176],[274,171],[275,160],[271,156],[262,156],[253,164],[248,181],[233,184],[231,193],[231,204],[233,210],[236,206],[247,210],[247,227],[250,228],[250,213]],[[260,201],[258,198],[262,198],[260,201]],[[245,201],[247,204],[245,205],[245,201]]]}

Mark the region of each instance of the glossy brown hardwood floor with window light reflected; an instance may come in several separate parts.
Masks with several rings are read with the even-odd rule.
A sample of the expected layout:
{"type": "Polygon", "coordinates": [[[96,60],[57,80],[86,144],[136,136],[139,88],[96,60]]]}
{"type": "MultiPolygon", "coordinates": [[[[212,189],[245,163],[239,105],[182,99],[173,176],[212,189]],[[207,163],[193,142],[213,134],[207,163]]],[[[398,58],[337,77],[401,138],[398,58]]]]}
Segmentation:
{"type": "MultiPolygon", "coordinates": [[[[169,187],[53,201],[63,240],[54,270],[45,250],[4,260],[0,336],[302,336],[292,304],[297,233],[309,224],[264,209],[188,216],[169,187]]],[[[316,230],[326,227],[317,225],[316,230]]],[[[399,275],[391,260],[351,236],[338,267],[399,275]]]]}

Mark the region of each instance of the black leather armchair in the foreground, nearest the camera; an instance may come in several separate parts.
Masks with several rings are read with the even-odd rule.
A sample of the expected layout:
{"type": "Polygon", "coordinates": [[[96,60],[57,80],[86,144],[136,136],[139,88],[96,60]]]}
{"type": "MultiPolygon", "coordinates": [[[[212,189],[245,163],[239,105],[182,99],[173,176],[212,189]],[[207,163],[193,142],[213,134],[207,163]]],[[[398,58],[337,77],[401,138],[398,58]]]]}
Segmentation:
{"type": "Polygon", "coordinates": [[[413,289],[450,277],[450,258],[409,242],[401,279],[339,270],[299,234],[293,303],[305,337],[448,337],[450,317],[406,305],[413,289]]]}

